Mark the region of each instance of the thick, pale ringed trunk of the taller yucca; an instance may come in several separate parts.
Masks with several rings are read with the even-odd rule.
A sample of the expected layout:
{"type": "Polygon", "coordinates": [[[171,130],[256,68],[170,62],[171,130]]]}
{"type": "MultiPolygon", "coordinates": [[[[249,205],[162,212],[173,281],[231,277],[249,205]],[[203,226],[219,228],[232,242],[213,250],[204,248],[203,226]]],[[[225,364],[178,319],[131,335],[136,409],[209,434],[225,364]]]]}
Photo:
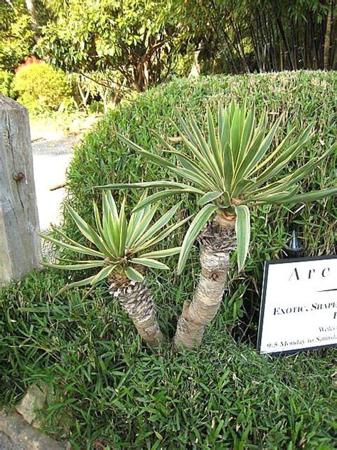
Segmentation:
{"type": "Polygon", "coordinates": [[[217,216],[200,233],[199,242],[200,280],[193,300],[183,304],[174,337],[176,348],[198,347],[206,324],[218,313],[230,266],[230,251],[236,247],[235,221],[217,216]]]}

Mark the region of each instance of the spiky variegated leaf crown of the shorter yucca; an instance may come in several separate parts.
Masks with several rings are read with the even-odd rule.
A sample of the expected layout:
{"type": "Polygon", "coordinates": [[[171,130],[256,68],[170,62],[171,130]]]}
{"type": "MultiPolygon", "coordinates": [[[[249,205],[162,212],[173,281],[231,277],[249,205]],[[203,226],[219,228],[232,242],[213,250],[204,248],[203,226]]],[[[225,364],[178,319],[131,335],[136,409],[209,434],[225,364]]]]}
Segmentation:
{"type": "Polygon", "coordinates": [[[112,276],[113,278],[114,274],[139,282],[143,280],[143,275],[139,271],[140,266],[169,269],[169,266],[158,260],[179,253],[181,248],[151,251],[151,247],[166,239],[189,218],[169,224],[179,209],[180,203],[178,203],[158,220],[154,220],[159,205],[146,203],[146,192],[141,196],[139,203],[145,204],[145,206],[139,208],[137,205],[127,221],[125,199],[118,211],[111,192],[103,192],[102,215],[97,204],[94,202],[93,205],[95,228],[87,224],[71,206],[66,205],[77,228],[90,244],[87,246],[79,244],[55,227],[53,227],[55,237],[44,234],[40,234],[40,236],[58,248],[95,257],[95,259],[77,261],[59,258],[59,263],[44,263],[44,265],[70,271],[100,268],[95,276],[71,283],[68,287],[87,284],[95,286],[107,277],[112,276]]]}

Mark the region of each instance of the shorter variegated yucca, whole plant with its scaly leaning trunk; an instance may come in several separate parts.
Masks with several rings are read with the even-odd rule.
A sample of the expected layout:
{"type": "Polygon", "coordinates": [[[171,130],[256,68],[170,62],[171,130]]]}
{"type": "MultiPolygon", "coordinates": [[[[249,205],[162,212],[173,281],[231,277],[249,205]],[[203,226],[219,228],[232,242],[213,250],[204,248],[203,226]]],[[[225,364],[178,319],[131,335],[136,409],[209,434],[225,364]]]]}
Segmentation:
{"type": "MultiPolygon", "coordinates": [[[[140,202],[144,202],[145,199],[144,193],[140,202]]],[[[158,204],[147,204],[144,208],[138,208],[127,221],[125,199],[118,212],[111,192],[104,192],[102,219],[95,202],[93,206],[96,229],[87,224],[71,206],[66,206],[82,235],[90,241],[90,245],[84,246],[70,239],[63,231],[55,227],[53,227],[55,237],[41,236],[58,248],[95,259],[73,261],[58,258],[58,263],[45,263],[45,266],[68,271],[99,268],[100,271],[95,275],[70,283],[66,288],[96,286],[97,283],[107,279],[109,293],[119,299],[119,303],[132,319],[141,338],[151,346],[158,345],[164,340],[164,336],[156,319],[154,300],[144,280],[144,271],[146,268],[168,270],[169,266],[158,260],[180,252],[180,247],[149,250],[150,247],[166,239],[187,220],[168,225],[179,206],[180,204],[176,204],[159,220],[153,221],[158,204]]]]}

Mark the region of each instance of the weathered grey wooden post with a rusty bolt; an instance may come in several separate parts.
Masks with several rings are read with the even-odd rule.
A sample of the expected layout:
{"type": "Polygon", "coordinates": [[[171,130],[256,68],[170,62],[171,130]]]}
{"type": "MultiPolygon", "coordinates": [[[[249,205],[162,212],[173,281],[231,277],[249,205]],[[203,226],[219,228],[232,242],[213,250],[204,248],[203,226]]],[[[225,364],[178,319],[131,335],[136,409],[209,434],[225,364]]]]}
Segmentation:
{"type": "Polygon", "coordinates": [[[28,111],[0,94],[0,284],[41,262],[28,111]]]}

